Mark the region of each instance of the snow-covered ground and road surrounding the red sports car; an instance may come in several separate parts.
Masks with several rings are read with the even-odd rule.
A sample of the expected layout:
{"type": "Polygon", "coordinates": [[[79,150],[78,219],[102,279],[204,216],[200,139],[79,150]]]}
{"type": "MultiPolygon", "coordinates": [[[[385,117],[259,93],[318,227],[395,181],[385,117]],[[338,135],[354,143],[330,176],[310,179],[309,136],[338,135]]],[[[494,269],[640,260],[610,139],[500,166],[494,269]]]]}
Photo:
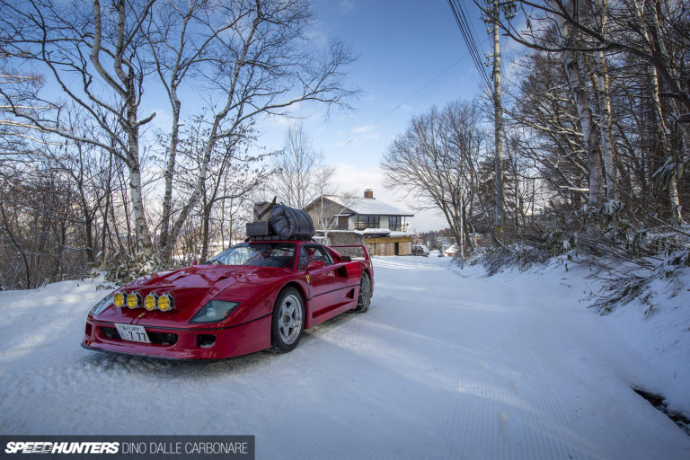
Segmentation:
{"type": "Polygon", "coordinates": [[[491,278],[376,258],[367,314],[286,355],[208,363],[79,346],[96,281],[0,292],[0,434],[256,435],[257,458],[690,458],[690,292],[598,316],[586,273],[491,278]]]}

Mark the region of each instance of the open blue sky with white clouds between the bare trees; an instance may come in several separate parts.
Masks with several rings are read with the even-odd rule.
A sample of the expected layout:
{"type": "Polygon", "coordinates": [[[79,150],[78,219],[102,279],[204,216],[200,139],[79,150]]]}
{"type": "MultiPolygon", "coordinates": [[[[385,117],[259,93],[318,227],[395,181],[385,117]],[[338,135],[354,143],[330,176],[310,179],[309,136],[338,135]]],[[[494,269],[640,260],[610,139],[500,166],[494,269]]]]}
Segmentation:
{"type": "MultiPolygon", "coordinates": [[[[474,13],[476,40],[488,52],[479,13],[471,2],[464,4],[474,13]]],[[[305,131],[326,163],[336,166],[341,190],[371,188],[377,199],[412,208],[414,203],[383,186],[378,165],[386,147],[412,116],[481,93],[480,77],[450,7],[446,0],[314,0],[314,9],[314,46],[337,37],[358,56],[349,83],[362,95],[355,111],[331,112],[328,119],[321,111],[306,110],[305,131]]],[[[286,120],[266,122],[261,143],[279,149],[287,126],[286,120]]],[[[411,220],[411,228],[420,231],[445,226],[429,213],[411,220]]]]}

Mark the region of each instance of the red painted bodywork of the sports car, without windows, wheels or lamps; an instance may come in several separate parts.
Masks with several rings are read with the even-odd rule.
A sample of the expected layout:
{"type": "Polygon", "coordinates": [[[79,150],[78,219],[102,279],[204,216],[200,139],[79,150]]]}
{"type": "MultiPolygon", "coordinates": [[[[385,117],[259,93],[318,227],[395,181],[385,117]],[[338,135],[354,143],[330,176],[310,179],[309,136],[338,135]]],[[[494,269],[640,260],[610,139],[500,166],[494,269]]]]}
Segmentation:
{"type": "Polygon", "coordinates": [[[169,292],[174,297],[174,308],[162,312],[108,305],[101,313],[88,315],[82,346],[156,358],[230,358],[270,348],[273,308],[284,288],[296,288],[303,297],[304,329],[356,308],[359,282],[365,271],[372,281],[373,295],[374,270],[364,246],[357,246],[364,252],[363,259],[348,261],[339,252],[319,243],[270,243],[296,244],[292,268],[194,265],[149,275],[116,289],[111,294],[138,292],[142,298],[150,293],[169,292]],[[300,247],[304,244],[325,248],[334,263],[308,271],[298,270],[300,247]],[[219,323],[190,323],[210,300],[239,305],[219,323]],[[152,343],[123,340],[116,323],[143,326],[152,343]]]}

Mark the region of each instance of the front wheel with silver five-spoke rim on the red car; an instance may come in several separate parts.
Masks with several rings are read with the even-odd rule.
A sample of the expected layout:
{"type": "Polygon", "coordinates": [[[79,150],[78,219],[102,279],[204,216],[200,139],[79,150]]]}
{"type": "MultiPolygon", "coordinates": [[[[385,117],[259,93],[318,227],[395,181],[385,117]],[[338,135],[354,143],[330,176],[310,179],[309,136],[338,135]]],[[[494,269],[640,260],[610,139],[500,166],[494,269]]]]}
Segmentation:
{"type": "Polygon", "coordinates": [[[274,351],[287,353],[299,343],[305,328],[305,302],[296,288],[283,289],[276,305],[270,326],[270,343],[274,351]]]}

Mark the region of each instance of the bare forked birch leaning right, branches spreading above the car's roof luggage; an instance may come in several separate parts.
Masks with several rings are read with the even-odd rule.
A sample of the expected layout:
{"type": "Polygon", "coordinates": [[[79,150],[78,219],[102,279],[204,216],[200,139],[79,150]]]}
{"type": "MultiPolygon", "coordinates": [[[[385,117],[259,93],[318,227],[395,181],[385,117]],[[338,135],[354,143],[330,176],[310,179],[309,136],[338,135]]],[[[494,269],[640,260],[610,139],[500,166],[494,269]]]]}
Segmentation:
{"type": "MultiPolygon", "coordinates": [[[[161,253],[166,257],[181,224],[202,194],[208,165],[217,142],[242,137],[246,126],[264,114],[283,116],[298,102],[348,106],[354,91],[345,88],[344,68],[352,62],[341,43],[314,52],[306,31],[314,20],[304,0],[236,0],[173,2],[162,4],[151,24],[150,45],[160,80],[173,110],[168,163],[165,168],[164,216],[161,253]],[[170,18],[175,18],[171,20],[170,18]],[[196,186],[173,215],[172,177],[182,84],[208,92],[205,110],[211,111],[204,155],[196,186]]],[[[233,141],[234,142],[234,141],[233,141]]]]}

